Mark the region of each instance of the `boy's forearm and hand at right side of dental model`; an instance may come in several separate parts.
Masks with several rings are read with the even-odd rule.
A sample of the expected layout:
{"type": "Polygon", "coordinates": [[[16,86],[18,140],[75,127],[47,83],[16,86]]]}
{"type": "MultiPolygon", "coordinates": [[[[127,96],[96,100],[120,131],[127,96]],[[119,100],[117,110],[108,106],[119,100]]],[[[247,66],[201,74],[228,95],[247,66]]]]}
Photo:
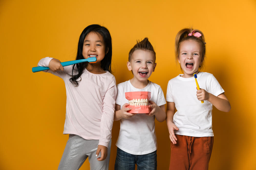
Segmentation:
{"type": "Polygon", "coordinates": [[[164,104],[161,106],[157,106],[155,102],[149,101],[151,105],[149,107],[152,108],[152,111],[150,113],[147,113],[148,116],[155,115],[156,120],[158,122],[163,122],[165,120],[166,114],[165,114],[165,106],[164,104]]]}

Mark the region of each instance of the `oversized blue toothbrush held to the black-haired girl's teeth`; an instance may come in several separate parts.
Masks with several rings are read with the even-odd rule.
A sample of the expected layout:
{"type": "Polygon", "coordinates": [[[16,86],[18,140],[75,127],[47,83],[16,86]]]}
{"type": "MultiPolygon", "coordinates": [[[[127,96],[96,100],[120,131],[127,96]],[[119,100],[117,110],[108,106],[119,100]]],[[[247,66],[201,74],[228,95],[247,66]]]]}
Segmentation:
{"type": "MultiPolygon", "coordinates": [[[[66,61],[66,62],[61,62],[61,65],[64,66],[69,66],[72,64],[77,64],[77,63],[81,63],[81,62],[89,62],[89,63],[95,63],[97,61],[96,57],[89,57],[87,59],[81,59],[81,60],[73,60],[73,61],[66,61]]],[[[44,71],[44,70],[49,70],[49,67],[33,67],[32,68],[32,72],[38,72],[38,71],[44,71]]]]}

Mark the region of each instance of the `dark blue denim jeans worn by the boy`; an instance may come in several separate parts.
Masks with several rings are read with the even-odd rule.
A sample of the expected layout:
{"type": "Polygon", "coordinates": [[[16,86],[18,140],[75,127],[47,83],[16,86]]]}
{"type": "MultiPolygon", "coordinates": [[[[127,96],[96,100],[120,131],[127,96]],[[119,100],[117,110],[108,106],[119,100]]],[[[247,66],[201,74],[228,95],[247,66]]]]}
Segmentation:
{"type": "Polygon", "coordinates": [[[156,169],[156,151],[145,155],[133,155],[117,148],[115,159],[115,170],[137,170],[156,169]]]}

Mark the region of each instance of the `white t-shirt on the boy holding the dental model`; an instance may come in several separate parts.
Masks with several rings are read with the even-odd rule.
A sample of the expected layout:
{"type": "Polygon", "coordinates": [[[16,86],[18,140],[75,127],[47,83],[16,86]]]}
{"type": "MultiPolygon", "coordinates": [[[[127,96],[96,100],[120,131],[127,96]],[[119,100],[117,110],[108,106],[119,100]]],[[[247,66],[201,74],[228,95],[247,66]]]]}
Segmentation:
{"type": "MultiPolygon", "coordinates": [[[[162,88],[151,81],[148,82],[146,87],[138,89],[128,80],[118,84],[117,89],[116,104],[120,105],[121,109],[125,103],[129,103],[125,98],[125,92],[130,91],[150,91],[150,101],[155,102],[157,106],[166,104],[162,88]]],[[[116,146],[134,155],[154,152],[157,149],[155,116],[138,113],[128,119],[122,118],[116,146]]]]}

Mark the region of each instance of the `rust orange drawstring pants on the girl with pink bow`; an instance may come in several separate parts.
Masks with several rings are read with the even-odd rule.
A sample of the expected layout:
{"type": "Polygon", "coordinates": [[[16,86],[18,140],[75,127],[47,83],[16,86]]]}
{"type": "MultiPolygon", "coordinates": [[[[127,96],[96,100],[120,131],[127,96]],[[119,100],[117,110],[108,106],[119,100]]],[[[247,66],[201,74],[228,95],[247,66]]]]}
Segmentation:
{"type": "Polygon", "coordinates": [[[213,136],[191,137],[177,135],[171,142],[169,170],[207,170],[213,146],[213,136]]]}

